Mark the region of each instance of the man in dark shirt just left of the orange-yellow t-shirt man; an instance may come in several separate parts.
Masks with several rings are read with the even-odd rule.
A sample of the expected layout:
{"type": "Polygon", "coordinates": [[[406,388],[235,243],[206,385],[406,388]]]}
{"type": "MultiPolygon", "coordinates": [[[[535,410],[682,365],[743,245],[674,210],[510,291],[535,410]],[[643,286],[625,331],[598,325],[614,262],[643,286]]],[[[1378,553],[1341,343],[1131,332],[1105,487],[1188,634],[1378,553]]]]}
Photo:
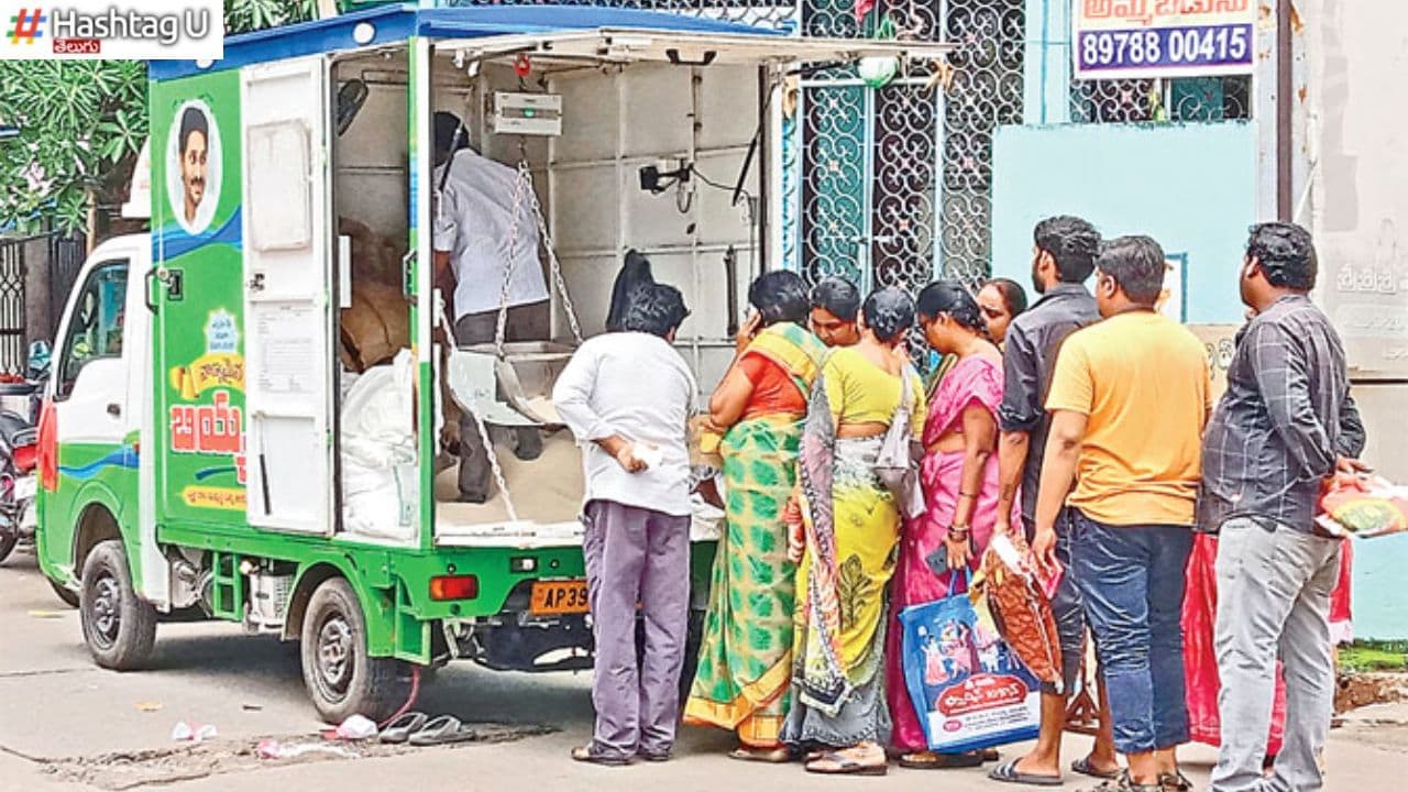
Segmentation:
{"type": "MultiPolygon", "coordinates": [[[[1036,489],[1041,483],[1042,457],[1050,417],[1046,413],[1046,389],[1056,368],[1062,341],[1076,330],[1100,321],[1095,299],[1083,285],[1095,269],[1100,233],[1079,217],[1050,217],[1036,224],[1032,251],[1032,285],[1043,295],[1029,310],[1012,320],[1002,354],[1005,385],[998,407],[1001,443],[998,469],[1002,481],[998,495],[997,531],[1005,533],[1012,500],[1022,496],[1022,523],[1029,531],[1036,517],[1036,489]]],[[[1057,557],[1070,564],[1069,516],[1057,520],[1057,557]]],[[[1031,538],[1031,537],[1028,537],[1031,538]]],[[[1062,645],[1063,685],[1042,689],[1042,731],[1036,747],[1025,757],[993,772],[997,781],[1059,781],[1060,740],[1066,727],[1066,696],[1080,672],[1086,638],[1086,617],[1080,595],[1070,575],[1063,576],[1052,602],[1062,645]]],[[[1104,696],[1101,696],[1104,699],[1104,696]]],[[[1091,754],[1071,765],[1091,775],[1117,774],[1114,736],[1108,712],[1101,713],[1101,729],[1091,754]]]]}

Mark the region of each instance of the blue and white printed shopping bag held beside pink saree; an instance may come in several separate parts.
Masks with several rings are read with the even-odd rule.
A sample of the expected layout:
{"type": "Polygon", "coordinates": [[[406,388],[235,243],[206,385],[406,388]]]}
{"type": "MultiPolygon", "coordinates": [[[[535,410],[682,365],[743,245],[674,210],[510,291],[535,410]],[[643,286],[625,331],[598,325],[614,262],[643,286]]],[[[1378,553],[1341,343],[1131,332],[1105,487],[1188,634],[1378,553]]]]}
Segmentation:
{"type": "Polygon", "coordinates": [[[900,612],[904,682],[929,750],[963,753],[1036,737],[1041,689],[967,593],[900,612]]]}

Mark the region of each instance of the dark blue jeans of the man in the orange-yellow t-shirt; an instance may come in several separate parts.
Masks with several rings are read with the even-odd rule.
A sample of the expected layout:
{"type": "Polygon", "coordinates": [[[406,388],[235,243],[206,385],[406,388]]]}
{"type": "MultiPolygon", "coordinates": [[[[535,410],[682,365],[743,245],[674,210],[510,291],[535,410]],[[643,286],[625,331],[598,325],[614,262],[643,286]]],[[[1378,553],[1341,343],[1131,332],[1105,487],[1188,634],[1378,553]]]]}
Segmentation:
{"type": "Polygon", "coordinates": [[[1074,512],[1071,569],[1105,675],[1115,748],[1188,741],[1183,685],[1186,526],[1107,526],[1074,512]]]}

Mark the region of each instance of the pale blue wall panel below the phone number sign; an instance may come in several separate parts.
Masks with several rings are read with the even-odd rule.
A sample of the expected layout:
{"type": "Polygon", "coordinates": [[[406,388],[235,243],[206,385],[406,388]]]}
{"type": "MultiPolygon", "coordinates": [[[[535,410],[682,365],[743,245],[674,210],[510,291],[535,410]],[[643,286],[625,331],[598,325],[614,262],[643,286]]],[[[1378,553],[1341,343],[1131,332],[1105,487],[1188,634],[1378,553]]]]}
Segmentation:
{"type": "Polygon", "coordinates": [[[1032,227],[1079,214],[1183,258],[1186,320],[1239,324],[1238,268],[1256,218],[1250,124],[1002,127],[993,141],[993,273],[1028,283],[1032,227]]]}

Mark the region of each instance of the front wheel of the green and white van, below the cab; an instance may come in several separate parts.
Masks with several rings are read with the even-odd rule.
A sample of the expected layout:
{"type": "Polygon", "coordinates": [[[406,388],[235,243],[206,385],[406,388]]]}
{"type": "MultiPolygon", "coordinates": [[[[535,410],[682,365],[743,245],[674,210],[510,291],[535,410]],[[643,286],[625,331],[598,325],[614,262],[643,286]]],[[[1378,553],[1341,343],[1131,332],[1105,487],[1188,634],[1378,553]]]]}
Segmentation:
{"type": "Polygon", "coordinates": [[[156,643],[156,609],[132,589],[122,540],[93,547],[82,579],[79,621],[93,661],[113,671],[145,667],[156,643]]]}

